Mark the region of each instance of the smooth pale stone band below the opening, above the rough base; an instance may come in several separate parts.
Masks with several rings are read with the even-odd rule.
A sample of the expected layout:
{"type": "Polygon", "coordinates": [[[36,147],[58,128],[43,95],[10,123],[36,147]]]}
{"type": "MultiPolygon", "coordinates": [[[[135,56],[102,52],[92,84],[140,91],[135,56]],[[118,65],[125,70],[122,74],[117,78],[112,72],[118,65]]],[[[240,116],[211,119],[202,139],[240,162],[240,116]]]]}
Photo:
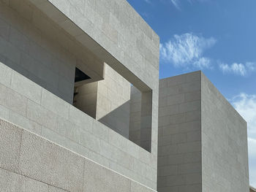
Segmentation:
{"type": "MultiPolygon", "coordinates": [[[[0,63],[0,68],[15,74],[10,75],[8,86],[1,84],[0,81],[1,118],[67,147],[132,180],[156,188],[156,156],[46,91],[35,82],[21,74],[16,74],[8,66],[0,63]],[[39,90],[41,98],[39,103],[37,97],[29,99],[26,93],[23,95],[22,92],[18,93],[13,89],[11,82],[16,82],[15,78],[18,78],[20,83],[27,82],[35,87],[35,90],[39,90]]],[[[13,156],[7,155],[6,158],[15,161],[13,156]]]]}

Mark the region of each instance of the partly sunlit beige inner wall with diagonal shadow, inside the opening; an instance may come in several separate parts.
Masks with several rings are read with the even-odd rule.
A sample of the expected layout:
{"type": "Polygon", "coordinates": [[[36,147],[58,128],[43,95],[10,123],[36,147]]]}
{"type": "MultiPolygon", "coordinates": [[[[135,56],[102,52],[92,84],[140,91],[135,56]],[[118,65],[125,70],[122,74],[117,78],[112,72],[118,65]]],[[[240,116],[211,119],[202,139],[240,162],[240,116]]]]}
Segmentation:
{"type": "Polygon", "coordinates": [[[129,138],[130,83],[108,64],[104,80],[75,88],[74,106],[129,138]]]}

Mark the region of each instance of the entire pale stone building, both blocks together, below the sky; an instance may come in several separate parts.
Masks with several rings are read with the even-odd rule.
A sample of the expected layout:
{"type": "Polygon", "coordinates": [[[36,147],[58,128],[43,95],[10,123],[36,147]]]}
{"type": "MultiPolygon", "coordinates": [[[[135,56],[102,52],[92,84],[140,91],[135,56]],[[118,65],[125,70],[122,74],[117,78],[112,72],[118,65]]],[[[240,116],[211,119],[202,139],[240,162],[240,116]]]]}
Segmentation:
{"type": "Polygon", "coordinates": [[[127,1],[0,1],[0,191],[248,191],[246,145],[201,72],[159,82],[127,1]]]}

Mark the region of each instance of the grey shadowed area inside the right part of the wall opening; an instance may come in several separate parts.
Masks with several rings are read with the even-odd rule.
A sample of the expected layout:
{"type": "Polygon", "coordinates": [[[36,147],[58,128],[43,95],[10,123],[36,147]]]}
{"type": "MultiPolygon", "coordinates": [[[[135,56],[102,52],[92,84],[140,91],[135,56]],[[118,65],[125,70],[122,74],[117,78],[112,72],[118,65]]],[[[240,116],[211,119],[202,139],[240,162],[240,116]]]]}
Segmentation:
{"type": "Polygon", "coordinates": [[[151,151],[151,145],[148,144],[151,142],[151,121],[146,122],[149,128],[145,130],[142,127],[145,124],[141,112],[142,101],[142,93],[132,86],[129,101],[98,120],[145,150],[151,151]]]}

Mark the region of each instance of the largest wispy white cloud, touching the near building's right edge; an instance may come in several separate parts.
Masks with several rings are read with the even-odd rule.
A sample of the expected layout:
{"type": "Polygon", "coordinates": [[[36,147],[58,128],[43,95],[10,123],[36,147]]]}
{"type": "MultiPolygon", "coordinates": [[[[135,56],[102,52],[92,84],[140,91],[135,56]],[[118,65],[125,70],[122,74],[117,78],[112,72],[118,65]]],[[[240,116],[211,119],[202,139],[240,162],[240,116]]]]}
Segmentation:
{"type": "Polygon", "coordinates": [[[213,37],[207,39],[192,33],[176,34],[160,45],[160,56],[163,61],[174,66],[211,68],[211,59],[203,57],[203,53],[215,43],[216,39],[213,37]]]}

